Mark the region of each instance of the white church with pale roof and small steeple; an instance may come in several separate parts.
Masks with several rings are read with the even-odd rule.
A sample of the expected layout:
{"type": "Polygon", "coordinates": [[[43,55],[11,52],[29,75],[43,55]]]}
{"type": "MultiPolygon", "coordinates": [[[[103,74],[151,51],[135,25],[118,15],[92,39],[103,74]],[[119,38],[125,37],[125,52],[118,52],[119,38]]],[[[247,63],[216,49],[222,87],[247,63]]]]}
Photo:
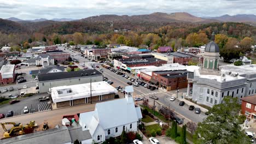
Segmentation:
{"type": "Polygon", "coordinates": [[[120,136],[122,131],[137,131],[142,113],[135,107],[133,87],[125,87],[125,98],[97,103],[94,111],[80,113],[79,124],[89,130],[94,142],[120,136]]]}

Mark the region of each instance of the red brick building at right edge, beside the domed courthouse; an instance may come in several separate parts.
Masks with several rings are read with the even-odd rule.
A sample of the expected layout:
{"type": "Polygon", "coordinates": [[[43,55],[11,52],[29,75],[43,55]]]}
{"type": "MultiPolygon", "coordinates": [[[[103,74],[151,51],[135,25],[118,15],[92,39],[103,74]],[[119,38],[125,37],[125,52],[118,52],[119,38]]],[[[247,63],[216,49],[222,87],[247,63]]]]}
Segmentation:
{"type": "Polygon", "coordinates": [[[241,99],[241,113],[247,117],[256,119],[256,95],[241,99]]]}

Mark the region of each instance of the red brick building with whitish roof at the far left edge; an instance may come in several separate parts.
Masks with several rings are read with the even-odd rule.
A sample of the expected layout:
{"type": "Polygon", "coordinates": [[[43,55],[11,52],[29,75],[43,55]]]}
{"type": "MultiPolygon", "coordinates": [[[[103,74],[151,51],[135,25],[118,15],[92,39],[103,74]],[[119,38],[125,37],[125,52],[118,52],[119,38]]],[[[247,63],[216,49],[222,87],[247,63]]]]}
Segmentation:
{"type": "Polygon", "coordinates": [[[14,83],[15,81],[15,65],[3,65],[0,70],[0,85],[14,83]]]}

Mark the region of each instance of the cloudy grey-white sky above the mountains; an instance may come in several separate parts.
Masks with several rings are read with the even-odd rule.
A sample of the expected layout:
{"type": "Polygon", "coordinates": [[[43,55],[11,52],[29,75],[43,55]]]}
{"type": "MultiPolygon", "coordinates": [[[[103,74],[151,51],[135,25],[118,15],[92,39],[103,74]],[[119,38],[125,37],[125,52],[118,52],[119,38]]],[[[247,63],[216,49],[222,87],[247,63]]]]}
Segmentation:
{"type": "Polygon", "coordinates": [[[7,19],[82,19],[102,14],[139,15],[188,12],[209,17],[255,14],[255,0],[0,0],[0,17],[7,19]]]}

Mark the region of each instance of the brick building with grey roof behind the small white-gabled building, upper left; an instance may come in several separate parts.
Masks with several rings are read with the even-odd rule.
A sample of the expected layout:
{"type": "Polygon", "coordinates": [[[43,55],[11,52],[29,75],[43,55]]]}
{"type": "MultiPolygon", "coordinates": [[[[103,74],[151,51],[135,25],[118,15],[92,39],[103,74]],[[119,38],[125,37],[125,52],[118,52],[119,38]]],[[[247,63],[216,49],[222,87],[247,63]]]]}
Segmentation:
{"type": "Polygon", "coordinates": [[[52,56],[56,62],[68,61],[68,58],[70,57],[70,53],[63,51],[48,51],[47,53],[52,56]]]}

